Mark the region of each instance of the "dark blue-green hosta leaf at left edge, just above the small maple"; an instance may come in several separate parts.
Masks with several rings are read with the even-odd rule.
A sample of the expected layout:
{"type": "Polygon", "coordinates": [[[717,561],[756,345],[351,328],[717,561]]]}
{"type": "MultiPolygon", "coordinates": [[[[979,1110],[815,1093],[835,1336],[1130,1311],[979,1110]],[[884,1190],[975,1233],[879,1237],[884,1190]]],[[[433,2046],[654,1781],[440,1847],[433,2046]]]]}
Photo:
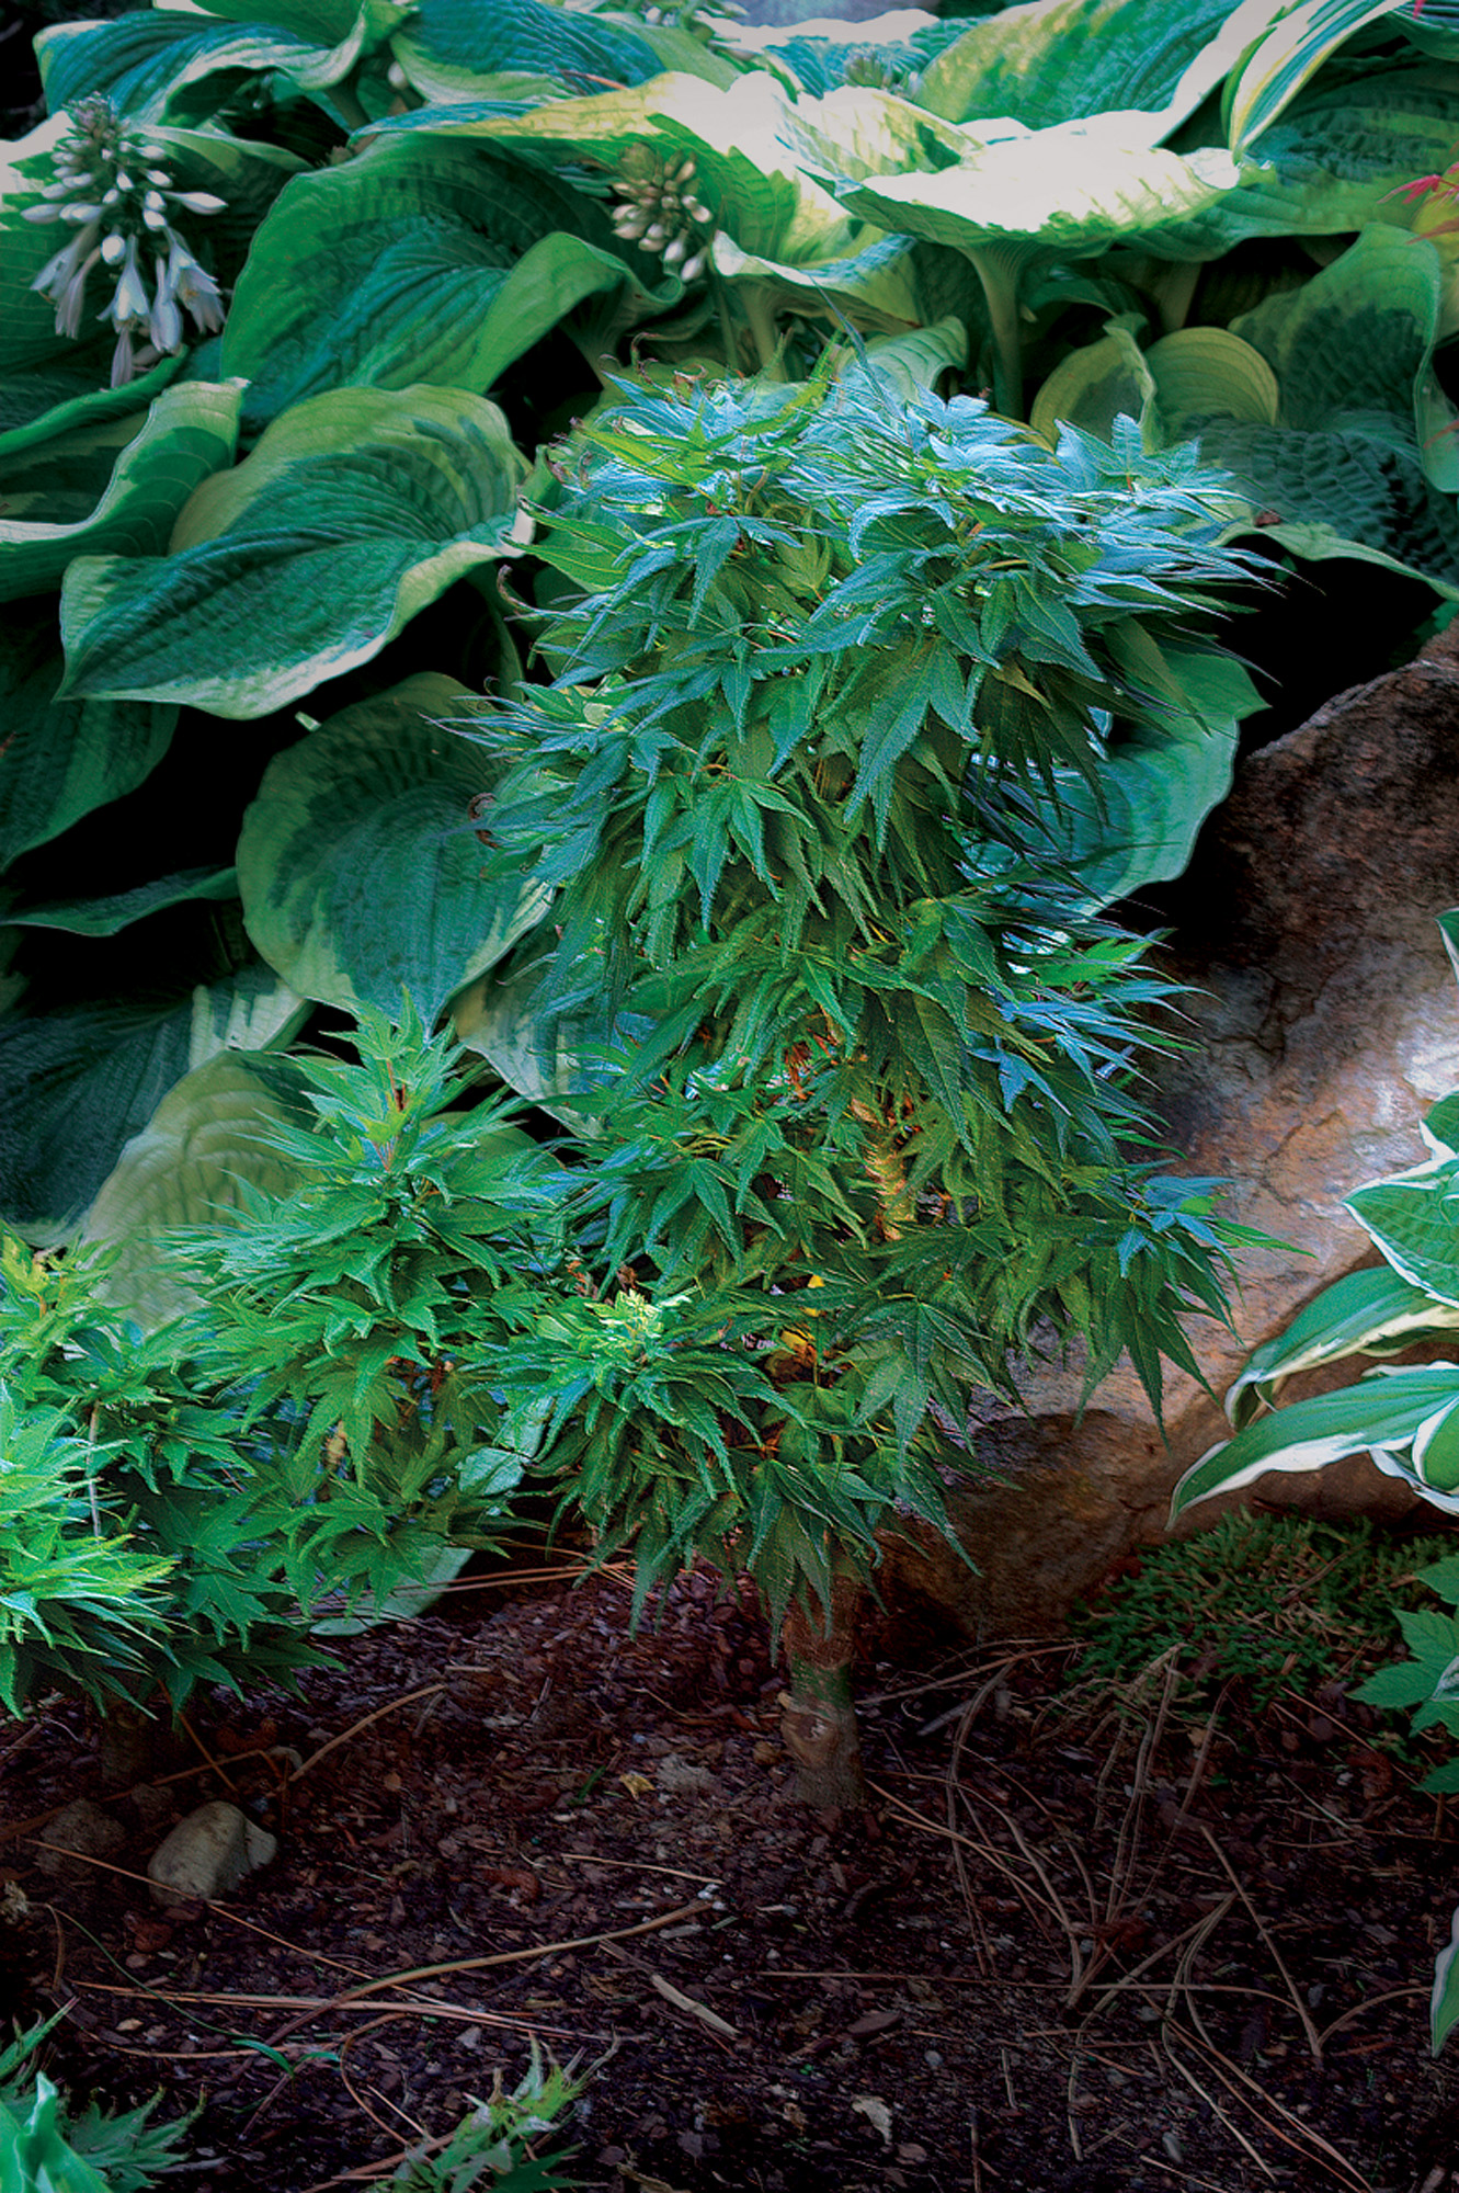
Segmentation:
{"type": "Polygon", "coordinates": [[[164,980],[164,967],[140,963],[149,1002],[46,1009],[26,996],[0,1020],[0,1215],[26,1239],[74,1232],[123,1145],[182,1075],[219,1050],[287,1042],[307,1013],[272,967],[250,965],[182,996],[166,996],[164,980]]]}

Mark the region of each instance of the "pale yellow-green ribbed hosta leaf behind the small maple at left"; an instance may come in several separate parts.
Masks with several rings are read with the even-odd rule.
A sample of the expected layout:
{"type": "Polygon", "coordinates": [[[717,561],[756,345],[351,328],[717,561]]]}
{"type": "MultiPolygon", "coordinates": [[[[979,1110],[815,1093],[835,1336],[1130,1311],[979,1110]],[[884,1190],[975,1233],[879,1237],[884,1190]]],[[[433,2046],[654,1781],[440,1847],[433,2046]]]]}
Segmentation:
{"type": "Polygon", "coordinates": [[[103,1279],[107,1300],[145,1327],[177,1316],[191,1292],[160,1257],[162,1237],[243,1219],[250,1191],[287,1195],[296,1169],[267,1136],[311,1121],[305,1070],[278,1050],[219,1050],[173,1083],[127,1140],[81,1228],[81,1241],[116,1252],[103,1279]]]}

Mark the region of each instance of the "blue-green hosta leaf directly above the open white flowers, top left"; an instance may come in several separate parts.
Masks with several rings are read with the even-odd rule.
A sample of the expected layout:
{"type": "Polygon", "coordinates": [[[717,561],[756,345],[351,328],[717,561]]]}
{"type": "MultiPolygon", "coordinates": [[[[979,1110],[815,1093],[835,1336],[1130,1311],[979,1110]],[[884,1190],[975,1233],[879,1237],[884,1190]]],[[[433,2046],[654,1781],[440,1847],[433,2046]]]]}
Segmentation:
{"type": "Polygon", "coordinates": [[[53,114],[92,92],[136,121],[221,105],[228,79],[278,75],[300,90],[322,90],[410,15],[394,0],[364,7],[134,9],[116,22],[66,22],[42,31],[35,50],[53,114]]]}

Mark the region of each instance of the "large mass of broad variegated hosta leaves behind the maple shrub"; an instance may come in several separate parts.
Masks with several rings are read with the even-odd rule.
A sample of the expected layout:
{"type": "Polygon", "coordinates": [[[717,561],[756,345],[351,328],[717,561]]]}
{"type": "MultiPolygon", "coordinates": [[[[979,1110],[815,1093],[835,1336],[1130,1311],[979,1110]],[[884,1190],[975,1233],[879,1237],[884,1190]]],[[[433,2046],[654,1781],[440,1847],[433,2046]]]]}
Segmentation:
{"type": "MultiPolygon", "coordinates": [[[[434,1015],[510,947],[453,833],[491,785],[432,721],[515,686],[528,467],[633,357],[802,379],[911,333],[1049,436],[1203,436],[1286,555],[1455,592],[1452,248],[1398,193],[1450,158],[1457,53],[1395,0],[48,31],[0,149],[0,1215],[202,1217],[237,1110],[162,1219],[105,1197],[162,1105],[212,1118],[197,1070],[403,978],[434,1015]]],[[[1133,750],[1098,816],[1179,860],[1216,752],[1133,750]]]]}

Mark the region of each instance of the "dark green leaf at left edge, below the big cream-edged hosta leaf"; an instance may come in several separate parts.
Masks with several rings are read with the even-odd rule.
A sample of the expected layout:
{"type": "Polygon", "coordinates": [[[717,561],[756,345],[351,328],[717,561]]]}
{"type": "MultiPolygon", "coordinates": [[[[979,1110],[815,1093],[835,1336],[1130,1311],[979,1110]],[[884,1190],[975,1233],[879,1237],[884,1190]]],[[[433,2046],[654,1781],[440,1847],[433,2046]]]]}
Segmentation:
{"type": "Polygon", "coordinates": [[[149,700],[57,700],[66,662],[50,603],[0,610],[0,871],[158,765],[177,711],[149,700]]]}

